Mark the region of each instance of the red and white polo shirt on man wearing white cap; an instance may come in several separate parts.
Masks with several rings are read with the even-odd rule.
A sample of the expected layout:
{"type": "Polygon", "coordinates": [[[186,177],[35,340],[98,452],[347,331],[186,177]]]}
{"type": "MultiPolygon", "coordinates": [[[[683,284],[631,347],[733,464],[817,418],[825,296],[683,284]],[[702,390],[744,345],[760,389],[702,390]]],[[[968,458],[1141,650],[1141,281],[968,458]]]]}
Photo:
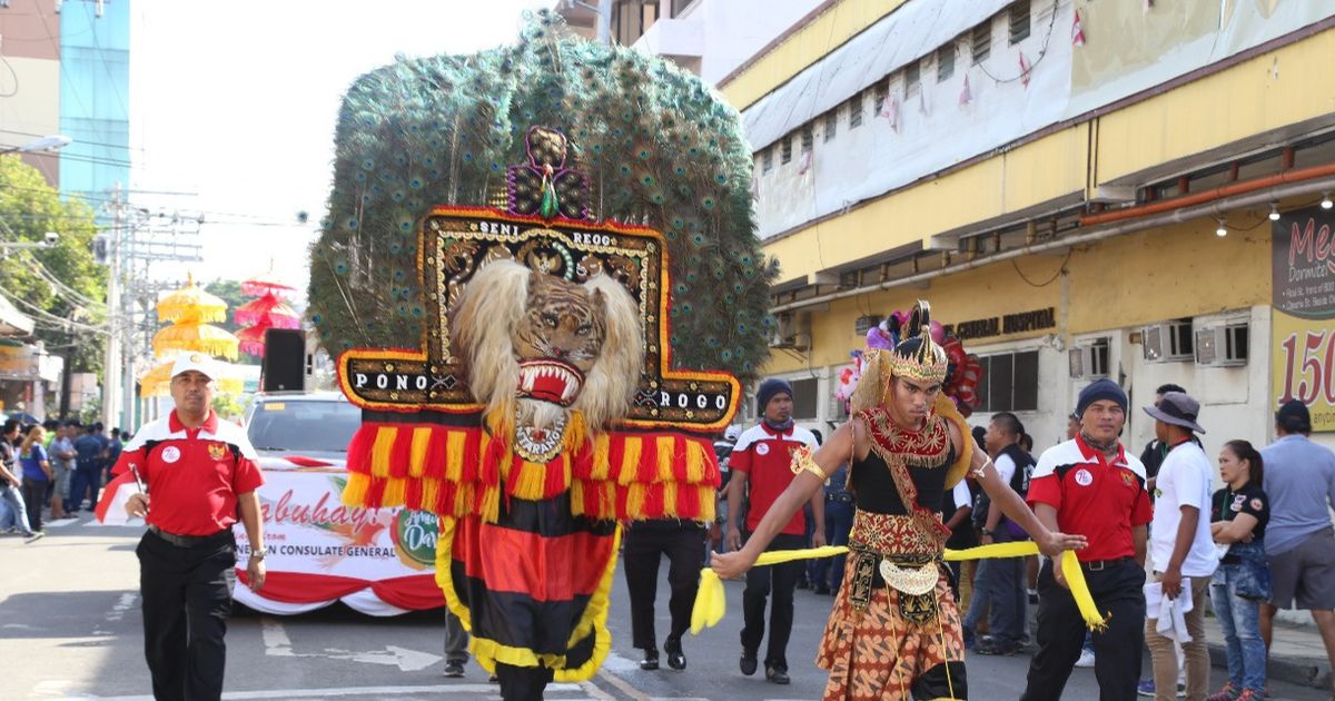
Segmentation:
{"type": "Polygon", "coordinates": [[[212,535],[236,522],[236,497],[264,477],[246,431],[208,418],[187,429],[171,415],[144,425],[120,453],[115,473],[139,471],[150,494],[148,523],[176,535],[212,535]]]}

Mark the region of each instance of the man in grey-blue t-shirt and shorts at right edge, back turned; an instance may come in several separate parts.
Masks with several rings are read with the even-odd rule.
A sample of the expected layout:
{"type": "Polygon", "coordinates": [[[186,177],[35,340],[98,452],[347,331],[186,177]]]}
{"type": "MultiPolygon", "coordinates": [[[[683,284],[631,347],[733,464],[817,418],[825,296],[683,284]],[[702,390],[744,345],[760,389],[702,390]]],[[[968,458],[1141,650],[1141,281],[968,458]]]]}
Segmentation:
{"type": "Polygon", "coordinates": [[[1335,454],[1314,443],[1307,405],[1290,399],[1275,414],[1276,441],[1262,449],[1270,497],[1266,558],[1271,597],[1260,608],[1260,634],[1270,649],[1275,612],[1296,604],[1312,612],[1335,666],[1335,454]]]}

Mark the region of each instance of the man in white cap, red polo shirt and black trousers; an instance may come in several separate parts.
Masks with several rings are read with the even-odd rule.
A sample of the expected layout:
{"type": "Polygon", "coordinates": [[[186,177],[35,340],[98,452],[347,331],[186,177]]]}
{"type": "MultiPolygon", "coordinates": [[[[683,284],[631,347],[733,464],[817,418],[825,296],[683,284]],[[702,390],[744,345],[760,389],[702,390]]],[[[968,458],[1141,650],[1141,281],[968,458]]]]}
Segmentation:
{"type": "Polygon", "coordinates": [[[176,361],[171,378],[176,409],[144,425],[115,469],[131,470],[147,487],[147,494],[129,498],[125,511],[148,522],[135,551],[144,656],[158,701],[223,696],[238,511],[250,539],[248,585],[264,586],[264,533],[255,494],[264,478],[246,433],[212,410],[214,367],[200,354],[176,361]]]}

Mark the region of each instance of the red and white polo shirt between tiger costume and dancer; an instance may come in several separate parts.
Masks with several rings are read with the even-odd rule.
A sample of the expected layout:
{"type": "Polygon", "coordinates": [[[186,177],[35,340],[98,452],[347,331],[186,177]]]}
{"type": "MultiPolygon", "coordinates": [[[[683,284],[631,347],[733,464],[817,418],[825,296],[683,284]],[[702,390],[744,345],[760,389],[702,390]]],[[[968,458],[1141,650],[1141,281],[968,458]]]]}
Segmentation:
{"type": "MultiPolygon", "coordinates": [[[[746,511],[746,530],[753,531],[760,526],[760,519],[765,518],[765,511],[774,505],[778,495],[788,489],[793,481],[793,449],[810,446],[816,450],[816,435],[806,429],[794,426],[785,433],[770,430],[761,422],[758,426],[742,431],[737,437],[737,445],[728,457],[728,469],[746,473],[750,486],[750,507],[746,511]]],[[[798,509],[792,521],[784,526],[789,535],[806,534],[806,513],[798,509]]]]}

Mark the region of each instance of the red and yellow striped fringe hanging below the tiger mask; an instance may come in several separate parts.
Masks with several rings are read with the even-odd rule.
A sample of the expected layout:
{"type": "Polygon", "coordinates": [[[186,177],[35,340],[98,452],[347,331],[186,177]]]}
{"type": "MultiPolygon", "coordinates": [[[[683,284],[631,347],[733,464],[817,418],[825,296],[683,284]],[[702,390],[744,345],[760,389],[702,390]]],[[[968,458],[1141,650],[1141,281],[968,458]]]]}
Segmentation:
{"type": "MultiPolygon", "coordinates": [[[[499,429],[499,427],[497,427],[499,429]]],[[[527,462],[477,426],[363,423],[348,445],[343,503],[406,506],[494,522],[502,498],[570,493],[575,515],[713,521],[718,463],[704,438],[669,433],[597,434],[575,415],[559,455],[527,462]]]]}

